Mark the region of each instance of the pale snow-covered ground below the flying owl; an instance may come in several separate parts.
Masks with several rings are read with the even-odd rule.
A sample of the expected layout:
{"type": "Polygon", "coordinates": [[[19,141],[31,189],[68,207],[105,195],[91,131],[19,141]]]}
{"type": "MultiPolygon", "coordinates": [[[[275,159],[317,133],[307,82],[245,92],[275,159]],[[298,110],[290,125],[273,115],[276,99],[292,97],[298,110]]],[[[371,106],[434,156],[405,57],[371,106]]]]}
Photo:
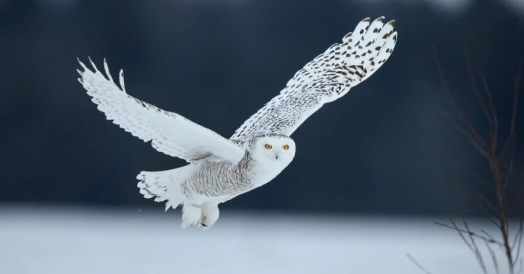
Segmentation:
{"type": "Polygon", "coordinates": [[[0,206],[0,273],[423,274],[408,252],[433,274],[481,272],[459,236],[433,224],[445,217],[224,209],[211,229],[184,230],[179,213],[159,211],[0,206]]]}

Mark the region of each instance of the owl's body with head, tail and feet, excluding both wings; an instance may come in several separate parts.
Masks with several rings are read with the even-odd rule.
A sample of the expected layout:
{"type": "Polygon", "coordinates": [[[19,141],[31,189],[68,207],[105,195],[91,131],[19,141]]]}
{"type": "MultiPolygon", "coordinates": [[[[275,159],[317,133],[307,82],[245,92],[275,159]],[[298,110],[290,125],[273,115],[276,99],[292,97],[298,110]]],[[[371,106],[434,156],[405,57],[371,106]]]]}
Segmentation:
{"type": "Polygon", "coordinates": [[[173,170],[143,171],[137,176],[140,193],[156,197],[156,202],[167,201],[166,210],[183,204],[184,227],[212,226],[219,215],[218,204],[273,180],[295,154],[293,140],[283,135],[256,136],[237,145],[245,150],[238,163],[206,157],[173,170]],[[268,143],[274,147],[266,149],[268,143]]]}

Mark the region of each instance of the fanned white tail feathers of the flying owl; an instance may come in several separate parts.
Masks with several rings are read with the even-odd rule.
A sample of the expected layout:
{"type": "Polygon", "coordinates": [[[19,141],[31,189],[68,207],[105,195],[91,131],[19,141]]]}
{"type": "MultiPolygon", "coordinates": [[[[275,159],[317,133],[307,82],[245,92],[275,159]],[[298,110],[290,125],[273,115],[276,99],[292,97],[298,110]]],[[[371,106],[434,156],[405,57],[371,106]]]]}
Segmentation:
{"type": "Polygon", "coordinates": [[[143,171],[136,178],[137,187],[144,198],[155,197],[155,202],[166,201],[166,211],[172,207],[176,209],[184,200],[181,184],[188,177],[189,166],[174,168],[165,171],[143,171]]]}

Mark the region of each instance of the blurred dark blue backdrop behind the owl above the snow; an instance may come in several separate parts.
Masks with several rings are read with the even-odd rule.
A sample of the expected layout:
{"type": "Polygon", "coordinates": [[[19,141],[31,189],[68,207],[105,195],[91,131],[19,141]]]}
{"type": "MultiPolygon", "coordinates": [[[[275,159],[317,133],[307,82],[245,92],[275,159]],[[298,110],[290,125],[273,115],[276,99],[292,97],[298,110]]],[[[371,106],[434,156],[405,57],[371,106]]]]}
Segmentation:
{"type": "MultiPolygon", "coordinates": [[[[431,47],[457,101],[483,127],[464,66],[463,47],[471,48],[504,137],[524,50],[524,10],[511,2],[0,1],[0,202],[150,206],[136,174],[184,164],[106,121],[77,82],[77,57],[100,65],[106,57],[114,75],[124,69],[133,96],[229,137],[359,20],[384,15],[399,32],[387,63],[302,124],[282,174],[226,206],[474,213],[446,183],[489,187],[453,159],[487,180],[488,166],[439,114],[451,108],[431,47]]],[[[523,122],[519,115],[520,135],[523,122]]],[[[523,147],[510,193],[524,183],[523,147]]]]}

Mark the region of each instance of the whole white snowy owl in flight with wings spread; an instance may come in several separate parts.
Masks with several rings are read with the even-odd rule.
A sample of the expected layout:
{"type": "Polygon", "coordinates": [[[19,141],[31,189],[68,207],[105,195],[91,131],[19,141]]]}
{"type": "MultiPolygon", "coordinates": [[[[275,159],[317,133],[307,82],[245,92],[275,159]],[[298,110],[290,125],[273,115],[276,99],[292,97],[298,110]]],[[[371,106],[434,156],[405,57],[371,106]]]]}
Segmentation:
{"type": "Polygon", "coordinates": [[[289,136],[325,103],[344,96],[372,75],[391,55],[397,40],[395,20],[362,20],[352,33],[299,70],[285,88],[238,128],[230,139],[126,93],[104,59],[104,74],[78,70],[98,109],[113,122],[159,152],[189,164],[172,170],[138,174],[140,193],[166,202],[166,210],[183,205],[182,227],[212,226],[218,205],[264,185],[291,163],[296,146],[289,136]]]}

